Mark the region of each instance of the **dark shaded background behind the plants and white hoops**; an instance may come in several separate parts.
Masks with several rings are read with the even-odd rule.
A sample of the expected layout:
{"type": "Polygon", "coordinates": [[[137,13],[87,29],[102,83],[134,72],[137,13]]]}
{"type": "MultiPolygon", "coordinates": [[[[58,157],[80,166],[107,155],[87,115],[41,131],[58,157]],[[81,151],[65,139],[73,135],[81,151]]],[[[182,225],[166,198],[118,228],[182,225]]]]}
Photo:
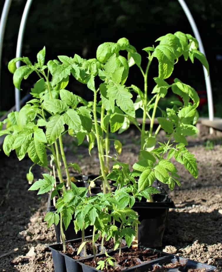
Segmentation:
{"type": "MultiPolygon", "coordinates": [[[[25,3],[24,0],[12,1],[9,11],[1,63],[1,111],[8,110],[15,103],[12,74],[9,73],[7,64],[15,57],[25,3]]],[[[216,59],[217,55],[222,55],[222,1],[186,0],[186,3],[200,31],[210,65],[215,115],[222,117],[222,61],[216,59]]],[[[1,0],[0,11],[3,4],[4,1],[1,0]]],[[[33,0],[24,34],[22,55],[35,62],[37,52],[45,45],[46,60],[54,59],[57,55],[74,56],[75,53],[91,58],[95,57],[99,44],[116,42],[119,38],[126,37],[146,57],[146,53],[141,51],[143,47],[152,46],[158,37],[176,31],[193,35],[191,26],[176,0],[33,0]]],[[[158,75],[157,65],[157,62],[153,62],[150,81],[158,75]]],[[[181,58],[175,69],[172,77],[180,78],[198,91],[206,90],[201,64],[191,64],[181,58]]],[[[126,84],[133,83],[143,87],[138,69],[132,67],[130,70],[130,78],[126,84]]],[[[29,92],[35,79],[37,78],[30,76],[23,81],[22,96],[29,92]]],[[[149,86],[152,87],[152,84],[149,86]]],[[[67,89],[80,93],[87,99],[91,98],[91,92],[78,82],[71,80],[68,86],[67,89]]],[[[199,110],[202,116],[208,114],[207,105],[199,110]]]]}

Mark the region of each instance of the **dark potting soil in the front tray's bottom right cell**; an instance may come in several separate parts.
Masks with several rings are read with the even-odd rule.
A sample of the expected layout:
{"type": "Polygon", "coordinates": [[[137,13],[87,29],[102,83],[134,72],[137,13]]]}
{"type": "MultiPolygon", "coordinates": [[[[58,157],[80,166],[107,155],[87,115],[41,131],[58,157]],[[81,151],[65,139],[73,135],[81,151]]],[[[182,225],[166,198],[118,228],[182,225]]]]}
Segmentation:
{"type": "Polygon", "coordinates": [[[153,266],[153,269],[147,270],[147,272],[168,272],[170,269],[172,268],[177,268],[178,271],[181,272],[204,272],[206,269],[199,269],[199,268],[186,268],[185,267],[186,264],[185,263],[166,263],[166,264],[162,264],[161,266],[155,265],[153,266]]]}

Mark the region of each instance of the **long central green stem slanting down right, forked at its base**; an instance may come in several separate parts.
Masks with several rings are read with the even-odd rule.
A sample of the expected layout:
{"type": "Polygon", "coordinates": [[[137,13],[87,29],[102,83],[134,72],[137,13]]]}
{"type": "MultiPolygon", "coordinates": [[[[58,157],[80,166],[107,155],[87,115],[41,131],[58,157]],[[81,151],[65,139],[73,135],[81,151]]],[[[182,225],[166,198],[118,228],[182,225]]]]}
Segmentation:
{"type": "MultiPolygon", "coordinates": [[[[93,103],[93,115],[94,115],[94,122],[95,122],[95,130],[96,130],[96,140],[97,140],[97,148],[98,148],[98,153],[99,153],[99,163],[100,163],[100,169],[101,169],[101,174],[103,176],[103,193],[106,193],[106,187],[108,188],[109,192],[110,186],[106,178],[106,174],[104,171],[104,160],[102,157],[101,153],[101,141],[100,141],[100,136],[99,136],[99,129],[98,129],[98,123],[97,123],[97,116],[96,116],[96,91],[94,91],[94,103],[93,103]]],[[[102,148],[103,150],[103,148],[102,148]]]]}

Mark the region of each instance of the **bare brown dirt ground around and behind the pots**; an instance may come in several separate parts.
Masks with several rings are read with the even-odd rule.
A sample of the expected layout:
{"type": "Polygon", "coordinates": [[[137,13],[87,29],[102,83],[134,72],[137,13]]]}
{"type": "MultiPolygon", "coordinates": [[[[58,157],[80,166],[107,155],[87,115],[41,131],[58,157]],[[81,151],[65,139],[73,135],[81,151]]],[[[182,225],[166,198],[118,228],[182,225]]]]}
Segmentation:
{"type": "MultiPolygon", "coordinates": [[[[160,135],[163,140],[164,135],[160,135]]],[[[211,137],[212,149],[206,150],[208,137],[189,139],[189,150],[198,160],[198,178],[176,163],[181,188],[169,192],[176,209],[171,209],[163,238],[163,250],[212,264],[222,271],[222,140],[211,137]]],[[[121,136],[123,155],[120,160],[136,162],[139,145],[133,130],[121,136]]],[[[84,147],[66,142],[68,160],[78,162],[84,174],[99,174],[96,150],[89,157],[84,147]]],[[[54,271],[47,245],[56,242],[54,228],[43,221],[47,195],[27,191],[26,173],[29,158],[21,162],[15,154],[9,158],[0,153],[0,271],[54,271]],[[5,255],[4,255],[5,254],[5,255]]],[[[35,179],[43,169],[34,167],[35,179]]]]}

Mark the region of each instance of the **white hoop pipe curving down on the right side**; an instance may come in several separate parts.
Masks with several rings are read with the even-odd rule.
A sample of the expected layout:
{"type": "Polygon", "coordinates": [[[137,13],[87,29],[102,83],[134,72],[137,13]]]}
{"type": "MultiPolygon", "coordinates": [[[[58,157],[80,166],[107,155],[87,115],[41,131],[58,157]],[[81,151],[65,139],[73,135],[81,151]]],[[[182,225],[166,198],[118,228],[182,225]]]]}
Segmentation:
{"type": "MultiPolygon", "coordinates": [[[[189,23],[192,27],[193,33],[195,38],[198,40],[199,43],[199,50],[201,53],[205,55],[205,51],[203,48],[203,43],[199,34],[199,31],[197,29],[196,23],[193,19],[193,16],[191,15],[190,10],[188,9],[188,6],[186,5],[184,0],[178,0],[180,3],[181,7],[183,8],[183,11],[185,12],[187,19],[189,20],[189,23]]],[[[213,97],[212,97],[212,89],[211,89],[211,79],[210,75],[208,76],[206,68],[203,66],[203,72],[204,72],[204,77],[205,77],[205,82],[206,82],[206,89],[207,89],[207,102],[208,102],[208,114],[209,114],[209,120],[213,121],[214,113],[213,113],[213,97]]],[[[212,128],[210,129],[210,134],[212,134],[213,130],[212,128]]]]}

